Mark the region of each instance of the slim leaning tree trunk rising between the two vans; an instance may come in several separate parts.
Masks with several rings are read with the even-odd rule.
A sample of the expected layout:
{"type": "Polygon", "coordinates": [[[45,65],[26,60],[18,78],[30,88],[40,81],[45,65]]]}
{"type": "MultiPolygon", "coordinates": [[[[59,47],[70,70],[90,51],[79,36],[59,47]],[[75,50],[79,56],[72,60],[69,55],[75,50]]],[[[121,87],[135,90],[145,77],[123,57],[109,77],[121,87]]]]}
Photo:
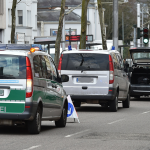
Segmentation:
{"type": "Polygon", "coordinates": [[[66,0],[61,1],[61,11],[60,11],[60,17],[59,17],[59,26],[58,26],[58,32],[57,32],[57,38],[55,43],[55,58],[54,62],[56,67],[58,67],[59,62],[59,54],[60,54],[60,42],[62,38],[62,28],[63,28],[63,18],[65,13],[65,2],[66,0]]]}

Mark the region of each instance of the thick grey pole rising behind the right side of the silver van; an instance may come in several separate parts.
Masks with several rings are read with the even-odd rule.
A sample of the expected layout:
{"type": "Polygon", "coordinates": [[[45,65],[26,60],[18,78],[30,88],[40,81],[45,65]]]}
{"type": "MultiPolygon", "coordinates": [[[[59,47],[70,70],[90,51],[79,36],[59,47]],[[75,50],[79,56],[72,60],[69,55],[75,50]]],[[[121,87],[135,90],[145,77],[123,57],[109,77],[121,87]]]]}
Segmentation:
{"type": "Polygon", "coordinates": [[[118,0],[113,0],[113,46],[118,50],[118,0]]]}

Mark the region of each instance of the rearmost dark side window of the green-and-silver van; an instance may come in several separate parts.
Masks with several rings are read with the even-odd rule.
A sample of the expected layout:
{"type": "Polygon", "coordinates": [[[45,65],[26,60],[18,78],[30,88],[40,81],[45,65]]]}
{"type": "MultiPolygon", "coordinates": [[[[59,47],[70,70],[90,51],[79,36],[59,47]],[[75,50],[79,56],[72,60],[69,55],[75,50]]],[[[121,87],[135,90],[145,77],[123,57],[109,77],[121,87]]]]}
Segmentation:
{"type": "Polygon", "coordinates": [[[33,65],[34,65],[34,76],[37,78],[42,78],[41,60],[38,55],[34,56],[33,65]]]}

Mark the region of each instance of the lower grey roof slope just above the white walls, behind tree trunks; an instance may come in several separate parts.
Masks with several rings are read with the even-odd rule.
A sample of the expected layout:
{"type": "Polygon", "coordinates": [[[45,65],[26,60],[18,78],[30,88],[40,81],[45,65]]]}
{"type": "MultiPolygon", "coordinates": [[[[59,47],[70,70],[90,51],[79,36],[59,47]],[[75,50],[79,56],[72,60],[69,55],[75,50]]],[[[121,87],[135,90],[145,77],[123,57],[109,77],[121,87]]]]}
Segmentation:
{"type": "MultiPolygon", "coordinates": [[[[60,11],[38,11],[38,21],[55,22],[59,21],[60,11]]],[[[65,15],[66,21],[81,22],[81,17],[74,12],[65,15]]],[[[89,21],[88,21],[89,23],[89,21]]]]}

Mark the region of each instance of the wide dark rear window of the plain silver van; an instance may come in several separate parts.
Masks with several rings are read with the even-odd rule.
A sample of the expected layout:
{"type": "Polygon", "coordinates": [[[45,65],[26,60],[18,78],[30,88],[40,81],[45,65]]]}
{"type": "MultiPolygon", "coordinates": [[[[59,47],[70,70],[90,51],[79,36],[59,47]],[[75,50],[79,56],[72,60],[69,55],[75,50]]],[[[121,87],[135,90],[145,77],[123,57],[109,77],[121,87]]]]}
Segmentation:
{"type": "Polygon", "coordinates": [[[109,56],[107,54],[71,53],[63,54],[62,70],[109,70],[109,56]]]}

